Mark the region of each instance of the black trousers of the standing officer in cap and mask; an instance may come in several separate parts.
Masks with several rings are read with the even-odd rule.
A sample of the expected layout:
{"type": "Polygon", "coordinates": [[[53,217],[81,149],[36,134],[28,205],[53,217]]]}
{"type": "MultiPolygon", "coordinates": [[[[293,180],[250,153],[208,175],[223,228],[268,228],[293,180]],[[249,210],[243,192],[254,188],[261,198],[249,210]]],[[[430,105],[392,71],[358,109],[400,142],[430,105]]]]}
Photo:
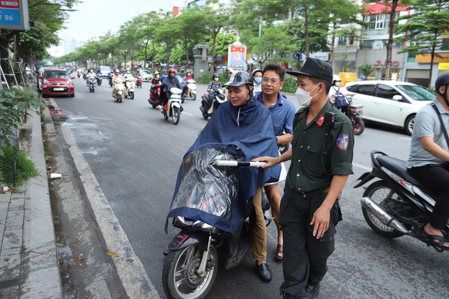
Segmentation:
{"type": "Polygon", "coordinates": [[[279,224],[283,232],[283,284],[280,291],[293,296],[304,296],[308,284],[318,284],[328,272],[327,260],[335,249],[335,225],[341,215],[338,203],[330,210],[329,229],[323,237],[313,236],[310,225],[327,193],[306,198],[283,195],[279,210],[279,224]]]}

